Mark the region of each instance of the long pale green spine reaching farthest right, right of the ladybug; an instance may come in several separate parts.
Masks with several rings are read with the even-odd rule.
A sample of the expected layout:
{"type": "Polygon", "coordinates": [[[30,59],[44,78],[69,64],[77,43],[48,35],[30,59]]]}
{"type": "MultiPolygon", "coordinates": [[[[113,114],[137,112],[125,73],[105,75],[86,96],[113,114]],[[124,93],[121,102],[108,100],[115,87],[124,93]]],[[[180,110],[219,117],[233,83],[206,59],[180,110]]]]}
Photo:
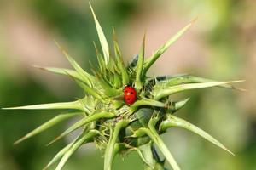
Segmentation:
{"type": "Polygon", "coordinates": [[[239,81],[230,81],[230,82],[201,82],[201,83],[189,83],[189,84],[180,84],[177,86],[172,86],[168,88],[154,88],[152,94],[154,99],[159,100],[163,97],[166,97],[171,94],[182,92],[184,90],[195,89],[195,88],[210,88],[215,86],[220,86],[224,84],[234,83],[234,82],[244,82],[243,80],[239,81]]]}

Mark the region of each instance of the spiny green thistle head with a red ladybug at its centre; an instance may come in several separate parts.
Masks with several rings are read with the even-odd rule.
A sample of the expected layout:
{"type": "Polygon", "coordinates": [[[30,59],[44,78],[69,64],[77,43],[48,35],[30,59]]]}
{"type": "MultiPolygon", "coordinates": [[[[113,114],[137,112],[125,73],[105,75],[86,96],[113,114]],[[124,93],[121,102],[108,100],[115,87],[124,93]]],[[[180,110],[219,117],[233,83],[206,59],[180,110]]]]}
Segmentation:
{"type": "Polygon", "coordinates": [[[173,42],[176,42],[192,26],[194,21],[184,26],[183,29],[178,31],[147,59],[144,56],[144,37],[138,55],[129,64],[125,65],[114,31],[114,54],[110,54],[102,27],[96,19],[92,8],[91,11],[102,47],[102,53],[96,48],[98,67],[92,68],[90,71],[92,73],[84,71],[58,43],[56,44],[73,66],[73,70],[38,67],[44,71],[72,78],[84,90],[84,98],[71,102],[4,108],[67,110],[32,130],[32,132],[27,133],[23,138],[17,140],[15,144],[42,133],[59,122],[79,117],[78,122],[68,127],[66,131],[49,143],[52,144],[77,129],[81,130],[79,135],[60,150],[44,169],[59,161],[55,169],[61,170],[69,157],[79,147],[93,142],[104,153],[104,170],[112,169],[113,159],[116,155],[124,155],[131,151],[136,151],[141,157],[146,170],[164,170],[166,169],[165,161],[170,163],[172,169],[179,170],[180,167],[160,138],[160,135],[166,133],[166,130],[171,127],[185,128],[234,155],[217,139],[214,139],[201,128],[175,116],[174,113],[181,109],[189,98],[173,101],[172,94],[196,88],[220,87],[237,89],[230,83],[241,81],[218,82],[191,75],[150,77],[147,74],[149,68],[154,65],[154,62],[160,58],[161,54],[173,42]],[[160,158],[155,147],[160,150],[165,159],[160,158]]]}

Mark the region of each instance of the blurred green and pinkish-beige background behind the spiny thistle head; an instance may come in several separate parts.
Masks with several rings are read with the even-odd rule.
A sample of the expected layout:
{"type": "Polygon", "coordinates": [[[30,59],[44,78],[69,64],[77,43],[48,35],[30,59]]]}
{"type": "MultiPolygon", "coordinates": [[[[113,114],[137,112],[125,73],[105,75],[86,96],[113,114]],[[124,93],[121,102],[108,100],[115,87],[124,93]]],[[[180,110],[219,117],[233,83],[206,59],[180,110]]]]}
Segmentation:
{"type": "MultiPolygon", "coordinates": [[[[147,54],[195,17],[195,25],[159,59],[151,75],[190,73],[217,80],[246,79],[247,92],[208,88],[189,91],[189,104],[177,112],[236,153],[182,129],[163,136],[183,169],[256,169],[256,2],[254,0],[91,0],[110,40],[115,27],[125,60],[138,52],[147,32],[147,54]]],[[[0,0],[0,107],[68,101],[82,91],[68,79],[32,65],[70,67],[56,48],[60,42],[85,69],[96,63],[99,44],[87,0],[0,0]]],[[[109,43],[111,41],[108,41],[109,43]]],[[[38,170],[73,138],[45,144],[71,122],[13,145],[58,111],[0,111],[0,169],[38,170]]],[[[102,153],[87,145],[64,169],[102,170],[102,153]]],[[[52,167],[54,169],[54,167],[52,167]]],[[[140,170],[136,154],[117,157],[113,169],[140,170]]]]}

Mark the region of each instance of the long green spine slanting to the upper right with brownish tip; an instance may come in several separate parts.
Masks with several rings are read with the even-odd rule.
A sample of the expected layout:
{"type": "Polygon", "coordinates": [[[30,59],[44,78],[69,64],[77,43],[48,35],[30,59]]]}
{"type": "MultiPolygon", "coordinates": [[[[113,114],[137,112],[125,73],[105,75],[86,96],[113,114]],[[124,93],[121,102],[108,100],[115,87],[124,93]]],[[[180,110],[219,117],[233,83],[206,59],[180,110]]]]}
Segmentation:
{"type": "Polygon", "coordinates": [[[144,65],[144,75],[146,75],[146,72],[151,67],[151,65],[154,64],[154,62],[159,59],[160,55],[163,54],[171,45],[173,42],[176,42],[179,37],[185,33],[190,26],[195,22],[195,20],[192,20],[189,25],[183,27],[182,30],[178,31],[177,34],[175,34],[171,39],[169,39],[164,45],[162,45],[154,54],[147,59],[145,65],[144,65]]]}

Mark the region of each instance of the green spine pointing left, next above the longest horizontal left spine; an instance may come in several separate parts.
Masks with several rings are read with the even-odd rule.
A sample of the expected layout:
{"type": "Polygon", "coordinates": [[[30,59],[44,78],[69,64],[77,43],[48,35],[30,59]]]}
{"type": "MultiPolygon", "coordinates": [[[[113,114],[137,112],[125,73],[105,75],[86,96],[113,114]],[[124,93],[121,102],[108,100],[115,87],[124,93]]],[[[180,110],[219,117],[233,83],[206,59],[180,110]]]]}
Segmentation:
{"type": "Polygon", "coordinates": [[[79,75],[79,73],[77,71],[73,71],[70,69],[63,69],[63,68],[55,68],[55,67],[42,67],[42,66],[38,66],[38,65],[33,65],[33,66],[38,69],[41,69],[43,71],[50,71],[50,72],[53,72],[56,74],[71,76],[75,79],[83,81],[82,77],[79,75]]]}

